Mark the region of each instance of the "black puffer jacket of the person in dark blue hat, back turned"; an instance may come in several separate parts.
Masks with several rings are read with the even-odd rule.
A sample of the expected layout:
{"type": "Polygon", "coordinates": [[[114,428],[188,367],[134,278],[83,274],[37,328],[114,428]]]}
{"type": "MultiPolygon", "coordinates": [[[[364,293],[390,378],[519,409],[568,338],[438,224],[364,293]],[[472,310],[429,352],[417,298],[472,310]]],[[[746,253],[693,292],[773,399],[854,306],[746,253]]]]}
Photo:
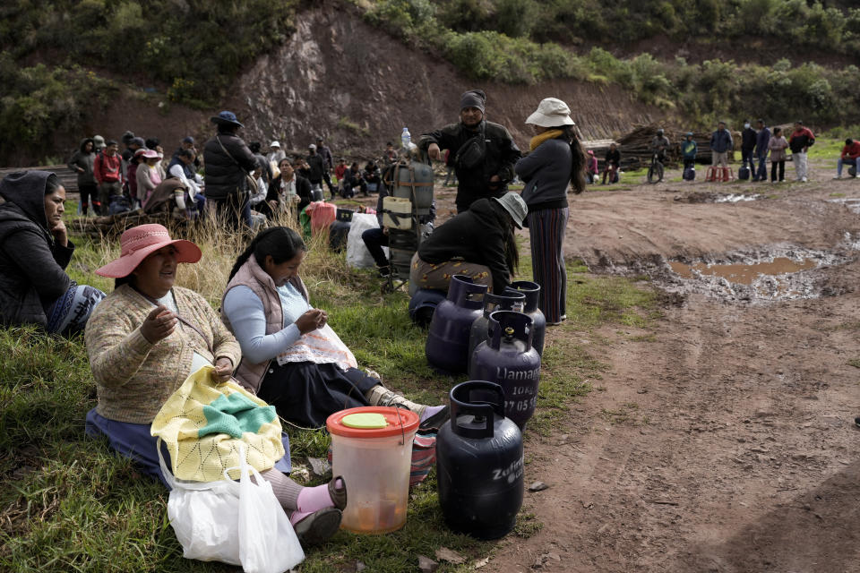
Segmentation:
{"type": "Polygon", "coordinates": [[[203,146],[203,163],[206,166],[204,181],[206,197],[221,201],[228,196],[242,196],[245,193],[245,175],[257,167],[254,153],[245,145],[242,138],[232,133],[219,133],[203,146]],[[220,140],[221,144],[216,140],[220,140]],[[221,149],[224,146],[229,152],[221,149]]]}

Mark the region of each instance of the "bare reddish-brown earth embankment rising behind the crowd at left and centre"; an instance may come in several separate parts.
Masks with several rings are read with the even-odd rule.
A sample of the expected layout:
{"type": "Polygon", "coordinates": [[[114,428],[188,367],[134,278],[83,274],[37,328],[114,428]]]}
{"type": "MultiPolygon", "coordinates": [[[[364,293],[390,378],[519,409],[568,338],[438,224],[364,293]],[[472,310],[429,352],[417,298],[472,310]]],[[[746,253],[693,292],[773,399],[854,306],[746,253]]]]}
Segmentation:
{"type": "MultiPolygon", "coordinates": [[[[323,134],[337,155],[370,156],[385,141],[396,140],[403,126],[419,133],[457,120],[460,94],[472,88],[487,93],[487,117],[507,126],[524,147],[531,133],[523,124],[542,98],[562,98],[587,139],[626,133],[634,123],[661,116],[614,86],[580,81],[547,81],[535,86],[469,81],[451,64],[405,47],[400,40],[367,25],[339,2],[323,2],[297,17],[288,41],[250,64],[219,106],[236,112],[245,124],[245,141],[273,140],[303,151],[323,134]]],[[[157,135],[173,150],[187,134],[205,141],[209,117],[199,111],[134,93],[116,99],[91,131],[116,138],[126,129],[157,135]]],[[[70,137],[69,145],[79,141],[70,137]]]]}

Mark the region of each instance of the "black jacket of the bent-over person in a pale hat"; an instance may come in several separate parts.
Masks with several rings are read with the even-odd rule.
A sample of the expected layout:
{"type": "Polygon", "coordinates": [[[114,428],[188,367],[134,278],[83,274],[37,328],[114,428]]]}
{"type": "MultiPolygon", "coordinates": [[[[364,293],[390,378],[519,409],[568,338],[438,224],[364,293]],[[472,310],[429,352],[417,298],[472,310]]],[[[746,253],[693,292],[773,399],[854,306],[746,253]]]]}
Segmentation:
{"type": "Polygon", "coordinates": [[[513,232],[510,227],[511,216],[498,201],[478,199],[469,210],[437,227],[418,247],[418,257],[430,264],[459,257],[485,265],[493,273],[493,292],[502,293],[511,284],[505,256],[505,236],[513,232]]]}

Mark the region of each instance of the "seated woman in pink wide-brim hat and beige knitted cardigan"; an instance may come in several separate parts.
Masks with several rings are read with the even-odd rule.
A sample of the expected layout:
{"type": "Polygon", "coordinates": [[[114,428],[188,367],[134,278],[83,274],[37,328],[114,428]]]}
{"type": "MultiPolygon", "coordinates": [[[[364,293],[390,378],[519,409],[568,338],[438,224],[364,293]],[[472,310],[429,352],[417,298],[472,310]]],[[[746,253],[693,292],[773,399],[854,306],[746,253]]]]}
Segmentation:
{"type": "MultiPolygon", "coordinates": [[[[150,434],[152,420],[192,372],[214,365],[212,378],[228,381],[242,353],[206,299],[174,285],[179,263],[200,261],[196,244],[172,239],[161,225],[128,229],[119,242],[119,258],[96,270],[116,278],[116,288],[93,312],[86,329],[99,392],[99,405],[87,414],[86,429],[91,436],[106,435],[111,448],[164,482],[157,439],[150,434]]],[[[293,514],[300,539],[322,541],[340,526],[346,486],[342,480],[317,488],[293,482],[280,472],[288,470],[285,449],[286,456],[274,467],[255,469],[293,514]]],[[[169,466],[167,449],[162,453],[169,466]]]]}

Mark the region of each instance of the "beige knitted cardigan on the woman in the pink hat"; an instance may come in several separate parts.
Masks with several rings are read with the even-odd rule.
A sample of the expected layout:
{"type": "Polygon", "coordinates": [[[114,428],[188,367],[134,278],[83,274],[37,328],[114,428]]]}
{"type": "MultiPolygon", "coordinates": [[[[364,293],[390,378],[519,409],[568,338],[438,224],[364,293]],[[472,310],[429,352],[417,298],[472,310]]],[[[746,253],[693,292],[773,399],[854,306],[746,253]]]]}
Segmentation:
{"type": "Polygon", "coordinates": [[[96,411],[118,422],[150,423],[161,405],[188,377],[193,353],[210,362],[221,356],[234,367],[242,357],[239,343],[201,295],[175,286],[182,321],[167,338],[150,344],[141,325],[155,308],[129,285],[119,286],[99,303],[87,321],[85,341],[96,379],[96,411]]]}

